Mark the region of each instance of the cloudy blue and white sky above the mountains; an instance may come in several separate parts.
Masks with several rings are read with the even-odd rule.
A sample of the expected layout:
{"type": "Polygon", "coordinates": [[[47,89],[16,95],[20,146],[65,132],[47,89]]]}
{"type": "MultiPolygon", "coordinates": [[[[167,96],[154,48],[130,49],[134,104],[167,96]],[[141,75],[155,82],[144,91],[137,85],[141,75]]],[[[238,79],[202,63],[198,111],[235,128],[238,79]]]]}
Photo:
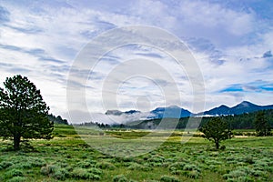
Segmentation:
{"type": "MultiPolygon", "coordinates": [[[[272,6],[271,0],[0,0],[0,82],[8,76],[27,76],[41,90],[50,112],[64,117],[76,113],[78,120],[88,119],[87,111],[107,109],[149,111],[177,105],[200,112],[244,100],[271,105],[272,6]],[[85,69],[74,71],[96,37],[134,25],[147,26],[147,34],[130,31],[132,36],[158,36],[157,43],[106,50],[96,65],[83,56],[85,69]],[[160,31],[148,32],[153,28],[186,45],[202,76],[204,107],[193,108],[194,72],[178,66],[168,54],[177,43],[164,40],[160,31]],[[158,48],[166,44],[167,50],[158,48]],[[87,110],[81,110],[78,93],[67,96],[67,83],[85,90],[87,110]],[[74,102],[72,107],[69,102],[74,102]]],[[[93,51],[126,34],[107,37],[93,51]]]]}

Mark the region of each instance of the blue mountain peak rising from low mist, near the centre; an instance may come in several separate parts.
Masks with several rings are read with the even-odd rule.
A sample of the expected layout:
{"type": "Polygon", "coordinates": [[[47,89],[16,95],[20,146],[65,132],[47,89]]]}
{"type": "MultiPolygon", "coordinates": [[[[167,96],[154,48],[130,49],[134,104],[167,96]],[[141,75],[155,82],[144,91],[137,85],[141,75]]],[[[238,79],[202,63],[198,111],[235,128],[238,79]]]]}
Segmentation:
{"type": "Polygon", "coordinates": [[[192,113],[188,110],[181,108],[179,106],[168,106],[168,107],[157,107],[155,110],[150,112],[151,116],[149,118],[180,118],[191,116],[192,113]]]}

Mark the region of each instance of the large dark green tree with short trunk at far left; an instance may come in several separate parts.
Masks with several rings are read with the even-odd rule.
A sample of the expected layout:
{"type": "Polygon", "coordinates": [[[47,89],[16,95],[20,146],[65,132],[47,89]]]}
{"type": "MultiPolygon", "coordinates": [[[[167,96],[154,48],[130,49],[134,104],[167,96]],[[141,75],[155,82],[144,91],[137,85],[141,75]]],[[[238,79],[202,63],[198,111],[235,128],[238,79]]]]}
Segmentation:
{"type": "Polygon", "coordinates": [[[54,124],[40,90],[20,75],[7,77],[4,86],[0,87],[0,136],[13,139],[15,150],[23,138],[51,139],[54,124]]]}

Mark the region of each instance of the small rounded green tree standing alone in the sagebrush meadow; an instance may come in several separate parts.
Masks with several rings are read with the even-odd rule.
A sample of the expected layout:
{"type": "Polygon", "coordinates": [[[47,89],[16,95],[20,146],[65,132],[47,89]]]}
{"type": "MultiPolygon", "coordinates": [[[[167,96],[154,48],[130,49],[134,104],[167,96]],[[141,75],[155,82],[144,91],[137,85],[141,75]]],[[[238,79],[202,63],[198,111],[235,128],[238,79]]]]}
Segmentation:
{"type": "Polygon", "coordinates": [[[220,142],[232,137],[232,132],[229,129],[227,122],[220,117],[213,117],[199,130],[204,134],[203,137],[215,143],[216,148],[219,148],[220,142]]]}

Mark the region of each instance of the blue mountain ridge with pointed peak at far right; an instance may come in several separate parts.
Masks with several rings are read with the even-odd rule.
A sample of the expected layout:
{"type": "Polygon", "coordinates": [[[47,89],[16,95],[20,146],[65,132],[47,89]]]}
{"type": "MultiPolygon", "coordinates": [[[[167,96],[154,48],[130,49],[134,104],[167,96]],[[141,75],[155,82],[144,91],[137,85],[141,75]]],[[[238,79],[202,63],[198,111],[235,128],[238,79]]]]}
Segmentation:
{"type": "Polygon", "coordinates": [[[222,116],[222,115],[240,115],[244,113],[252,113],[259,110],[273,109],[273,105],[269,106],[258,106],[248,101],[243,101],[237,106],[218,106],[213,109],[204,112],[204,115],[208,116],[222,116]]]}

